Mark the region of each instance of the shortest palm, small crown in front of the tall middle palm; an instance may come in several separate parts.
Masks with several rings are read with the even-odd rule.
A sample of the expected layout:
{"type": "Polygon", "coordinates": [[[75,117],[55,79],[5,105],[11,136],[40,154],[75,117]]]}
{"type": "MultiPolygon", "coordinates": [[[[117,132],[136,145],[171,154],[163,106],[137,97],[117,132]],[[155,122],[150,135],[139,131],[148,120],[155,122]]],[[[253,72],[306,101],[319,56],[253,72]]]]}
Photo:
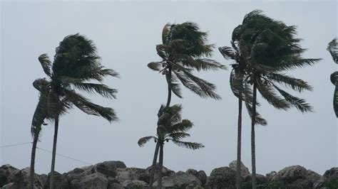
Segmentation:
{"type": "Polygon", "coordinates": [[[174,144],[190,148],[204,148],[203,144],[195,142],[181,141],[185,137],[190,136],[186,133],[193,127],[193,123],[188,119],[182,119],[180,112],[182,107],[175,104],[171,107],[161,105],[158,111],[158,129],[156,136],[145,136],[138,140],[138,146],[143,146],[145,143],[154,139],[156,144],[160,144],[160,160],[158,168],[158,188],[162,188],[162,168],[163,168],[163,146],[165,141],[173,141],[174,144]]]}

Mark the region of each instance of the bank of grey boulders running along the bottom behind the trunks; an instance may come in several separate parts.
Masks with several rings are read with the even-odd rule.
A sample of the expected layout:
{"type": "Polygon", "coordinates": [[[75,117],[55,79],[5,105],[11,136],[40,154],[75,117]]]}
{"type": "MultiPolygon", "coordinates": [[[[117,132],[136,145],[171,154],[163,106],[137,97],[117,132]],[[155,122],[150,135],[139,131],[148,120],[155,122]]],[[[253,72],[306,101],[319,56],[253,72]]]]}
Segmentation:
{"type": "MultiPolygon", "coordinates": [[[[163,188],[235,188],[236,162],[228,167],[215,168],[210,175],[204,171],[188,169],[171,171],[163,168],[163,188]]],[[[56,173],[56,189],[73,188],[147,188],[150,175],[148,168],[127,168],[122,161],[104,161],[93,166],[75,168],[67,173],[56,173]]],[[[155,175],[155,180],[157,175],[155,175]]],[[[242,188],[251,188],[251,175],[242,165],[242,188]]],[[[47,189],[49,175],[35,175],[34,188],[47,189]]],[[[29,168],[19,170],[11,165],[0,168],[0,188],[26,188],[29,168]]],[[[154,187],[157,182],[154,183],[154,187]]],[[[338,167],[319,175],[302,166],[290,166],[266,175],[257,174],[257,188],[338,188],[338,167]]]]}

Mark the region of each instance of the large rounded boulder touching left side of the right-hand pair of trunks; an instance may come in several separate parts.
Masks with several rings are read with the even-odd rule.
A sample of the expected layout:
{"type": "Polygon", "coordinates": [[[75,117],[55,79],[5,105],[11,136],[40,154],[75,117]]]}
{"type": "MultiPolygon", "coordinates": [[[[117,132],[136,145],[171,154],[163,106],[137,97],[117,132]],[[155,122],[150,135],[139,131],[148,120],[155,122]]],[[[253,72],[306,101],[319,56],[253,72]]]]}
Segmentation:
{"type": "Polygon", "coordinates": [[[206,187],[214,189],[235,188],[236,172],[232,168],[221,167],[211,171],[206,187]]]}

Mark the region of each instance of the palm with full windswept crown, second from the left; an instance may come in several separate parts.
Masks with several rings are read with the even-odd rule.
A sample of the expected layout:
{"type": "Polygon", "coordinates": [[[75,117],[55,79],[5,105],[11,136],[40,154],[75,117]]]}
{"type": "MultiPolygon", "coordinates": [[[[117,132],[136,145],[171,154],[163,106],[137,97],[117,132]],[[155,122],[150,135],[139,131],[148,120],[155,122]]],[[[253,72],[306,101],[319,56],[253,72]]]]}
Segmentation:
{"type": "Polygon", "coordinates": [[[51,183],[56,158],[56,141],[58,136],[58,121],[62,114],[73,106],[86,114],[101,116],[109,122],[116,121],[115,111],[110,107],[93,104],[89,99],[76,92],[97,93],[106,98],[116,98],[117,90],[101,83],[88,82],[91,80],[102,82],[103,77],[118,77],[118,73],[106,69],[101,65],[100,57],[96,55],[96,47],[91,40],[79,34],[66,36],[56,48],[53,64],[46,54],[39,57],[43,71],[48,76],[48,95],[46,109],[48,116],[54,121],[53,152],[51,162],[51,183]]]}

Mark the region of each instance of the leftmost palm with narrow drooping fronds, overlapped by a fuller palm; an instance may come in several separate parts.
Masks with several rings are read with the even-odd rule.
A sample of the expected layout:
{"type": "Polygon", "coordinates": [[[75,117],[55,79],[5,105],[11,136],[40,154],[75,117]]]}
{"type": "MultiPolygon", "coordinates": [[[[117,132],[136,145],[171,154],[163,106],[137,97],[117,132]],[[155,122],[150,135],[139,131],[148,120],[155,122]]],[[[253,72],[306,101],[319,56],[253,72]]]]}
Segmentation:
{"type": "Polygon", "coordinates": [[[51,117],[47,112],[47,98],[48,98],[48,81],[45,79],[38,79],[33,82],[33,86],[36,90],[39,90],[39,102],[36,106],[33,119],[31,121],[31,135],[33,137],[33,146],[31,148],[31,168],[29,175],[29,188],[34,188],[34,166],[35,166],[35,153],[36,153],[36,144],[39,141],[39,135],[41,131],[41,125],[46,125],[44,122],[45,119],[52,121],[51,117]]]}

